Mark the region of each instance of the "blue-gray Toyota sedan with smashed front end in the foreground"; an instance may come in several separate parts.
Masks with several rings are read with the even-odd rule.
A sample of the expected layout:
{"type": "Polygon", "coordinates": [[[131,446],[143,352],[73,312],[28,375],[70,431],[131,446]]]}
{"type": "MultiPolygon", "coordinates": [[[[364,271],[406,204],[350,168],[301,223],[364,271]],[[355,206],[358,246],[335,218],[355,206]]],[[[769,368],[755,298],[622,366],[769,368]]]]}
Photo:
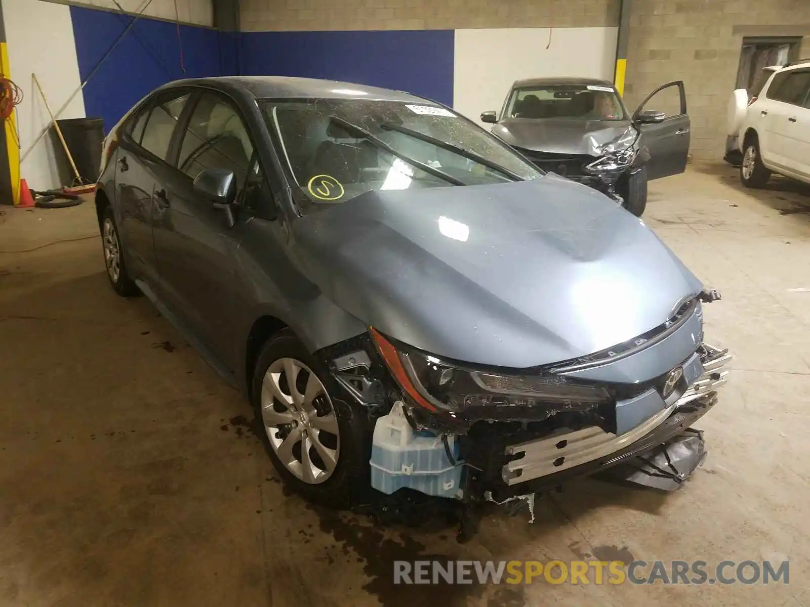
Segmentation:
{"type": "Polygon", "coordinates": [[[96,194],[109,281],[256,410],[283,482],[503,502],[616,465],[671,489],[717,402],[716,299],[607,196],[450,108],[320,80],[161,87],[96,194]]]}

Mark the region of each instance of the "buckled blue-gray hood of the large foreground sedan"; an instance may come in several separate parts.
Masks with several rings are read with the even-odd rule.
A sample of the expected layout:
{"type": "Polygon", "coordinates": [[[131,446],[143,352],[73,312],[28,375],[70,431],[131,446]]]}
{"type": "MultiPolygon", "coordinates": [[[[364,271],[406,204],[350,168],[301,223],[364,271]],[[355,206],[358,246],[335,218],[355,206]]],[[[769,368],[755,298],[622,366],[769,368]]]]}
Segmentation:
{"type": "Polygon", "coordinates": [[[533,367],[662,325],[701,282],[640,219],[556,176],[373,191],[293,223],[346,312],[447,359],[533,367]]]}

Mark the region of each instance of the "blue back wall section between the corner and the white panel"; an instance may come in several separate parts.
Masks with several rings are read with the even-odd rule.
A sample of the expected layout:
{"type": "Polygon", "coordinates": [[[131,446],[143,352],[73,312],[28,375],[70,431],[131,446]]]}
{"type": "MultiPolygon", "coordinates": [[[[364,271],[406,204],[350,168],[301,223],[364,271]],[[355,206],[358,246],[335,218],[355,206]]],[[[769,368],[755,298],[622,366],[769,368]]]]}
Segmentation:
{"type": "Polygon", "coordinates": [[[454,31],[243,32],[244,75],[345,80],[453,104],[454,31]]]}

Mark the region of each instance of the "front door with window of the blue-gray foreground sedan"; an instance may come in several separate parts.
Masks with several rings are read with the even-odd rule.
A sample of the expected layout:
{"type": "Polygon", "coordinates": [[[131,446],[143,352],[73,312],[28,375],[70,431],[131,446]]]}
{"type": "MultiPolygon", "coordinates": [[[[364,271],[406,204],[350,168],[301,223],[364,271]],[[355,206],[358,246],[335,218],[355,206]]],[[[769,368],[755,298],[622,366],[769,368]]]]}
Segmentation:
{"type": "Polygon", "coordinates": [[[235,256],[249,214],[237,211],[236,224],[229,225],[224,210],[195,193],[194,178],[207,168],[225,168],[235,173],[241,189],[253,155],[254,146],[236,108],[227,97],[205,92],[177,141],[175,168],[155,193],[161,290],[181,309],[203,346],[225,363],[232,354],[228,344],[235,256]]]}

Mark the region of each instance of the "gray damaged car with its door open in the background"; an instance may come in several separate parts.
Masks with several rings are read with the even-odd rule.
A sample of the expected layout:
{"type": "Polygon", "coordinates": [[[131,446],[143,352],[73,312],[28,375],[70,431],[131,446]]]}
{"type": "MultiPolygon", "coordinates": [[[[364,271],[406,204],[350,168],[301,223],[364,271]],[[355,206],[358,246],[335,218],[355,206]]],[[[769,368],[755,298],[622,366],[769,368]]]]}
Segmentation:
{"type": "Polygon", "coordinates": [[[590,185],[639,217],[647,181],[684,172],[689,155],[681,81],[652,91],[631,116],[606,80],[518,80],[501,112],[481,121],[539,168],[590,185]]]}

